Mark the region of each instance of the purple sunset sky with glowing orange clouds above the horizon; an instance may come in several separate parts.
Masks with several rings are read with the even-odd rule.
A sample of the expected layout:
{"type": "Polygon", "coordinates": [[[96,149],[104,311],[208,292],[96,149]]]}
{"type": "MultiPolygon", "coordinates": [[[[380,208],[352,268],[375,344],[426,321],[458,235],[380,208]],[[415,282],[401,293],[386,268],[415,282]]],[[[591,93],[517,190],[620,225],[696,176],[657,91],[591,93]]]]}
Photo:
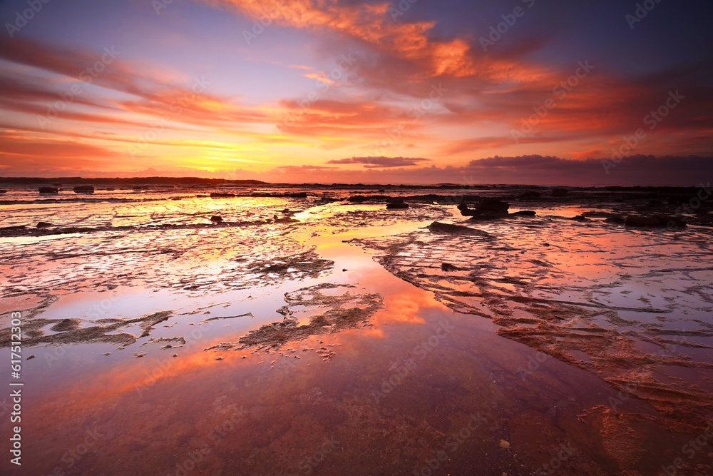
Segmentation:
{"type": "Polygon", "coordinates": [[[0,1],[0,176],[697,186],[707,0],[0,1]]]}

